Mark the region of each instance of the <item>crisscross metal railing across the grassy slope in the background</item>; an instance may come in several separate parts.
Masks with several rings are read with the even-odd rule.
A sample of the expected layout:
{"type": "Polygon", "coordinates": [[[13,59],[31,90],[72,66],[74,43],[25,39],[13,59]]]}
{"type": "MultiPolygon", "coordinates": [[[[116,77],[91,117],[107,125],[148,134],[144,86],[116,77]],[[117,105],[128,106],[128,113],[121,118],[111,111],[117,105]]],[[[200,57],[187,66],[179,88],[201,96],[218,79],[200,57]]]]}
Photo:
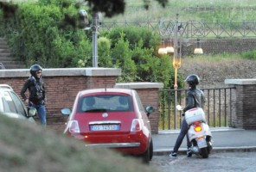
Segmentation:
{"type": "MultiPolygon", "coordinates": [[[[170,21],[172,22],[172,21],[170,21]]],[[[110,31],[112,28],[138,27],[148,28],[152,32],[159,33],[159,25],[161,21],[144,21],[144,22],[101,22],[99,32],[110,31]]],[[[201,38],[251,38],[256,36],[256,22],[202,22],[204,31],[201,38]]],[[[195,22],[186,22],[188,30],[184,31],[184,38],[197,38],[197,30],[202,30],[201,25],[195,22]]]]}

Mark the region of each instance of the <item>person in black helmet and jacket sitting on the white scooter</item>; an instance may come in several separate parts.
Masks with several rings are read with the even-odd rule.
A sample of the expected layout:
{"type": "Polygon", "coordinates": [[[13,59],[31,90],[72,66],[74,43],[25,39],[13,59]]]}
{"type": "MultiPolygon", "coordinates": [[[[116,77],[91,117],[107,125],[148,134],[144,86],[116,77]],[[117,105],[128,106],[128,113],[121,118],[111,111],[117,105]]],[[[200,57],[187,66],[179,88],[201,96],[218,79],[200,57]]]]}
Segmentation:
{"type": "MultiPolygon", "coordinates": [[[[195,74],[189,75],[185,79],[185,83],[188,83],[188,85],[189,85],[189,90],[188,90],[187,96],[186,96],[186,107],[183,108],[182,116],[184,116],[184,113],[191,108],[194,108],[194,107],[202,107],[203,108],[204,107],[205,96],[204,96],[202,90],[196,88],[196,85],[199,83],[199,80],[200,80],[199,77],[195,74]]],[[[176,153],[177,153],[179,147],[181,146],[182,140],[185,137],[185,135],[187,136],[187,146],[188,146],[187,156],[188,157],[192,156],[192,151],[190,150],[192,144],[189,142],[188,131],[189,131],[189,126],[188,126],[186,120],[184,119],[184,117],[182,117],[181,132],[179,133],[179,136],[176,139],[176,144],[173,148],[173,151],[170,153],[169,157],[176,157],[176,153]]]]}

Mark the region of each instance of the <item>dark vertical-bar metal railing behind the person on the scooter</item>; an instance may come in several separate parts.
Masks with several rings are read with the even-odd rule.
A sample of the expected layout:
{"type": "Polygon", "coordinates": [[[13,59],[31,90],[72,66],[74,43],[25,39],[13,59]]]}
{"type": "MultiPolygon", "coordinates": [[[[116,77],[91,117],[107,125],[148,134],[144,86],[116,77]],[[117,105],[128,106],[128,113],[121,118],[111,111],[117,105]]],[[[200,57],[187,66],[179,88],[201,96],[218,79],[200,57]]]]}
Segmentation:
{"type": "MultiPolygon", "coordinates": [[[[206,97],[204,112],[210,127],[228,126],[232,119],[232,90],[234,87],[218,89],[202,89],[206,97]]],[[[160,120],[159,130],[179,129],[181,126],[182,112],[175,110],[175,91],[177,103],[185,106],[185,97],[188,89],[161,89],[159,90],[160,120]]]]}

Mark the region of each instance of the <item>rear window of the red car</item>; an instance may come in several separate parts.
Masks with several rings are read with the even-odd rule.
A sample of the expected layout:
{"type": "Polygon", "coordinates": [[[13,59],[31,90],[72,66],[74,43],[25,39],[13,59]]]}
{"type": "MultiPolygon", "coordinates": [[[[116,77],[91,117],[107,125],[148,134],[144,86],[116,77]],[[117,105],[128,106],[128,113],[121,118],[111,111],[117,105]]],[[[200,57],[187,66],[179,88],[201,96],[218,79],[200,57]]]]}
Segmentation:
{"type": "Polygon", "coordinates": [[[127,95],[93,95],[81,97],[78,112],[118,112],[133,111],[131,96],[127,95]]]}

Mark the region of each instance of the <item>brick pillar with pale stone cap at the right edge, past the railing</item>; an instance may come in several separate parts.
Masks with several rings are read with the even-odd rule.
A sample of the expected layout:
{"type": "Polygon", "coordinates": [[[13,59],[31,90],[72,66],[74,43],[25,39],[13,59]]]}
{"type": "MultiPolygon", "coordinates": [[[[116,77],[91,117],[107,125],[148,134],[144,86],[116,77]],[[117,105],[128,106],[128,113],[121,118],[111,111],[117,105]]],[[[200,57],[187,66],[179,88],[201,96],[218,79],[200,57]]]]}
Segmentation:
{"type": "Polygon", "coordinates": [[[232,94],[232,119],[230,126],[256,129],[256,79],[226,79],[234,86],[232,94]]]}

